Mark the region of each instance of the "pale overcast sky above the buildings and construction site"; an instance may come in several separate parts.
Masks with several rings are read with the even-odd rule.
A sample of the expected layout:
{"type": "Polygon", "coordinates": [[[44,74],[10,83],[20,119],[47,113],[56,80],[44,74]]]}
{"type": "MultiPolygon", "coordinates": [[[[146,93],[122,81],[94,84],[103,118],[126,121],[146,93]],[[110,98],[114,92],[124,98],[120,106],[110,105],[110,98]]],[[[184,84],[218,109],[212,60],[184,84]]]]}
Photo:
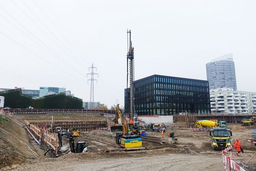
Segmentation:
{"type": "Polygon", "coordinates": [[[256,92],[256,1],[0,0],[0,88],[65,87],[124,105],[126,30],[135,80],[206,80],[206,63],[233,53],[239,91],[256,92]]]}

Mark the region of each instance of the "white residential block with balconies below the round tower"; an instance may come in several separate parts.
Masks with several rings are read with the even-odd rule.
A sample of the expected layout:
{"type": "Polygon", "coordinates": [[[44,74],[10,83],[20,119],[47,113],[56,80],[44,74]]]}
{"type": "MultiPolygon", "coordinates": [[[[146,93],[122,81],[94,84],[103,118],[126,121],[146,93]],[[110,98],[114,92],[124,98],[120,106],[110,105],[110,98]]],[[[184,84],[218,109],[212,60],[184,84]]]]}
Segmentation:
{"type": "Polygon", "coordinates": [[[231,88],[212,89],[210,107],[212,113],[256,113],[256,93],[233,91],[231,88]]]}

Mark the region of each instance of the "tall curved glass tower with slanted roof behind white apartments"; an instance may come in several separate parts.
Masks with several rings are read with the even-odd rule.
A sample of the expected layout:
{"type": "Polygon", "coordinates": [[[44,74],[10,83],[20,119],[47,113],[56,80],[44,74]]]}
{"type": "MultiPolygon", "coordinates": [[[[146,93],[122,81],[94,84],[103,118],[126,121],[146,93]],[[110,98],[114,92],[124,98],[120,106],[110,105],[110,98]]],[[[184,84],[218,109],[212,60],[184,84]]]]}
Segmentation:
{"type": "Polygon", "coordinates": [[[233,55],[227,54],[206,64],[209,88],[231,88],[237,90],[236,71],[234,69],[233,55]]]}

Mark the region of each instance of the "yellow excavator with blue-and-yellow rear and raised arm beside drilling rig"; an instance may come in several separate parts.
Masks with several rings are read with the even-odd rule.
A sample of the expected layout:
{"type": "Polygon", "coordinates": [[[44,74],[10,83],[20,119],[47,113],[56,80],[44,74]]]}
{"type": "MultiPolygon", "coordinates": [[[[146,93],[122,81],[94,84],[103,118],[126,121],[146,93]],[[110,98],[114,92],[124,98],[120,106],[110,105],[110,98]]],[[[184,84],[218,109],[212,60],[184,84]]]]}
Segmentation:
{"type": "Polygon", "coordinates": [[[134,148],[134,147],[141,147],[142,140],[140,135],[131,135],[133,132],[130,132],[129,125],[127,124],[122,110],[119,108],[119,104],[116,106],[116,117],[115,117],[115,124],[118,123],[118,118],[120,118],[122,122],[122,131],[123,133],[116,133],[116,143],[121,147],[125,148],[134,148]]]}

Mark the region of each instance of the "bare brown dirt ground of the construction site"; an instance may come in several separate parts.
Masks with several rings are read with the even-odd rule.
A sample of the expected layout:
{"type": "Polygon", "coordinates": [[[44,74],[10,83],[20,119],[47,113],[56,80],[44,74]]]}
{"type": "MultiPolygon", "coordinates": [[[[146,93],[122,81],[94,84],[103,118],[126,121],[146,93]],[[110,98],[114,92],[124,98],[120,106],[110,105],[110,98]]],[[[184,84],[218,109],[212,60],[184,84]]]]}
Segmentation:
{"type": "MultiPolygon", "coordinates": [[[[52,115],[27,116],[20,118],[47,118],[52,115]]],[[[58,118],[84,117],[85,115],[55,115],[58,118]]],[[[101,117],[101,115],[89,115],[88,117],[101,117]]],[[[29,145],[39,156],[44,157],[42,151],[25,129],[13,122],[12,118],[0,123],[0,128],[8,131],[29,145]]],[[[240,139],[245,153],[236,156],[232,151],[232,158],[241,163],[246,163],[256,152],[256,146],[250,145],[250,129],[254,126],[243,127],[240,124],[230,124],[233,133],[232,144],[235,139],[240,139]]],[[[147,132],[147,136],[161,137],[160,133],[147,132]]],[[[106,153],[106,149],[118,148],[115,144],[115,135],[108,131],[83,132],[76,141],[86,141],[89,152],[82,154],[65,154],[57,158],[39,158],[32,154],[30,149],[10,134],[0,130],[0,170],[223,170],[221,151],[214,151],[211,147],[209,132],[193,132],[191,129],[167,128],[163,141],[155,143],[143,141],[142,151],[113,151],[106,153]],[[175,132],[178,144],[169,144],[167,133],[175,132]]],[[[63,139],[63,147],[69,148],[67,140],[63,139]]],[[[248,163],[256,167],[256,156],[248,163]]],[[[251,167],[251,168],[252,168],[251,167]]],[[[247,168],[247,170],[253,170],[247,168]]],[[[255,170],[255,169],[254,169],[255,170]]]]}

